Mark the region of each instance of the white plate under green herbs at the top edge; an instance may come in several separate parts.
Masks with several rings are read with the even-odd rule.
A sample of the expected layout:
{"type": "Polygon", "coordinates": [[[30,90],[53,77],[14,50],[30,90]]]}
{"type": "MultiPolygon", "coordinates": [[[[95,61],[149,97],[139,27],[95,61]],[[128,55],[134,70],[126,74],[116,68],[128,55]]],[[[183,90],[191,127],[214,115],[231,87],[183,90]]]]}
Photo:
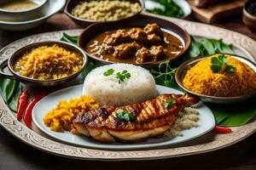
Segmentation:
{"type": "MultiPolygon", "coordinates": [[[[191,8],[190,5],[187,1],[185,0],[173,0],[174,3],[177,3],[177,6],[179,6],[180,8],[183,9],[183,17],[185,18],[187,16],[189,16],[189,14],[191,14],[191,8]]],[[[160,5],[159,3],[156,3],[152,0],[145,0],[145,8],[147,9],[153,9],[153,8],[164,8],[162,5],[160,5]]]]}

